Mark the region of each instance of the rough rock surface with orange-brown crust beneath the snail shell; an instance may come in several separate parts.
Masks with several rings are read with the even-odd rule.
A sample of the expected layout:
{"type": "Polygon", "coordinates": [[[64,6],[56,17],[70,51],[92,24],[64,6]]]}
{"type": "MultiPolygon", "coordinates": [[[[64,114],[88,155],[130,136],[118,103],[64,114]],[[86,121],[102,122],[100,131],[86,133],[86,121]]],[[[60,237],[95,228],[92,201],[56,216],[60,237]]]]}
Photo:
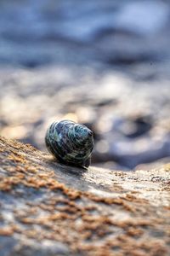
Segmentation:
{"type": "Polygon", "coordinates": [[[170,165],[84,171],[4,137],[0,163],[1,255],[169,255],[170,165]]]}

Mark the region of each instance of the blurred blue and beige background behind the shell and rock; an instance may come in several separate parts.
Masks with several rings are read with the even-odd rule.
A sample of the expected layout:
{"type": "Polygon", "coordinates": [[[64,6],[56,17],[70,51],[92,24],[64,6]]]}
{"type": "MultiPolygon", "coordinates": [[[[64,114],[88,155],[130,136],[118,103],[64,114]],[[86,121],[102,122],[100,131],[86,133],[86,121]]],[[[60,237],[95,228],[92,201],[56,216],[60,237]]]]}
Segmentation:
{"type": "Polygon", "coordinates": [[[170,1],[0,0],[0,134],[46,150],[58,119],[94,131],[93,165],[170,161],[170,1]]]}

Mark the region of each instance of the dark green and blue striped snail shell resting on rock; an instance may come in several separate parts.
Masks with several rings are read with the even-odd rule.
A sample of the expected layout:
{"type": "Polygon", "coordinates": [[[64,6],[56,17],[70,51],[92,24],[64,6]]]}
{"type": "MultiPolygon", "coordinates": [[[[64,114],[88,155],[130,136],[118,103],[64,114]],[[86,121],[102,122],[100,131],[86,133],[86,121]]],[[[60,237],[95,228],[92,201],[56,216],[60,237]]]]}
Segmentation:
{"type": "Polygon", "coordinates": [[[45,137],[48,151],[65,165],[88,167],[94,149],[93,131],[70,120],[54,122],[45,137]]]}

